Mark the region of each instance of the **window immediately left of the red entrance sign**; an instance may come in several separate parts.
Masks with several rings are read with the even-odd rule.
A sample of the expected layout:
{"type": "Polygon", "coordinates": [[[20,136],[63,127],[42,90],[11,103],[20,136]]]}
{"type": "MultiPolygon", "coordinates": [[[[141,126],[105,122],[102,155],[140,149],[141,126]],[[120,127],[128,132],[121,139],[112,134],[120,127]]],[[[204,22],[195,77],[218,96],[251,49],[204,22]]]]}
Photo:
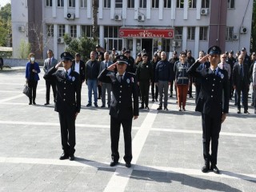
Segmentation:
{"type": "Polygon", "coordinates": [[[119,26],[104,26],[105,47],[122,50],[122,38],[119,38],[119,26]]]}

